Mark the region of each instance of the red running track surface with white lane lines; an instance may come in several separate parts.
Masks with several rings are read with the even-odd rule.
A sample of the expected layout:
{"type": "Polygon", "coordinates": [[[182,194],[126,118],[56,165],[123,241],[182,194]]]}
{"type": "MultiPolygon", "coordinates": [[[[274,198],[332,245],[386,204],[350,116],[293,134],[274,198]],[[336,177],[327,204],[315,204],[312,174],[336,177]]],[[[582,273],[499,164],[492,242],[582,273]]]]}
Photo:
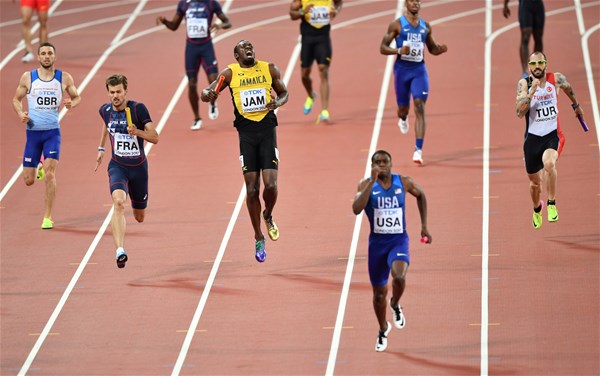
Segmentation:
{"type": "MultiPolygon", "coordinates": [[[[137,4],[60,4],[50,23],[51,32],[65,31],[51,35],[58,48],[57,67],[81,85],[137,4]],[[86,10],[91,6],[98,7],[86,10]],[[65,30],[97,20],[104,23],[65,30]]],[[[227,13],[234,26],[215,44],[220,67],[233,61],[232,47],[244,38],[254,43],[257,58],[275,62],[284,73],[298,37],[297,23],[287,18],[289,2],[236,0],[230,5],[227,13]]],[[[225,95],[220,100],[219,119],[206,119],[199,132],[189,131],[186,92],[169,112],[184,77],[183,30],[159,29],[115,49],[90,76],[81,105],[62,121],[56,228],[39,229],[42,185],[25,187],[19,179],[2,199],[0,373],[17,374],[26,364],[30,374],[170,374],[206,292],[181,374],[313,375],[333,369],[344,375],[475,375],[484,366],[489,374],[599,374],[598,138],[572,5],[546,4],[546,53],[550,68],[564,73],[575,88],[592,129],[581,132],[561,97],[567,137],[558,164],[561,219],[533,231],[522,166],[523,123],[514,116],[518,28],[500,32],[491,44],[492,91],[486,104],[483,3],[423,4],[422,16],[450,49],[426,57],[431,83],[427,165],[417,168],[410,161],[414,136],[398,132],[391,88],[385,93],[377,148],[389,150],[396,172],[412,176],[425,189],[434,243],[413,241],[402,299],[408,325],[391,332],[388,350],[381,354],[373,351],[377,324],[366,269],[366,220],[347,300],[342,299],[344,319],[336,319],[356,222],[351,200],[369,157],[382,82],[390,79],[379,43],[396,2],[347,1],[335,21],[332,125],[317,125],[316,115],[301,113],[305,93],[292,61],[290,101],[279,112],[278,128],[282,167],[274,215],[282,236],[268,242],[265,264],[254,261],[244,206],[224,245],[243,185],[230,99],[225,95]],[[97,109],[107,100],[104,79],[115,72],[128,76],[129,98],[146,103],[155,124],[164,123],[160,143],[149,155],[147,220],[137,224],[127,216],[130,262],[124,270],[114,265],[110,230],[102,231],[111,205],[106,173],[93,172],[102,126],[97,109]],[[482,148],[488,105],[490,197],[489,216],[484,217],[482,148]],[[487,237],[482,233],[486,218],[487,237]],[[482,243],[489,253],[487,304],[481,290],[486,275],[482,243]],[[219,255],[221,263],[213,269],[219,255]],[[81,274],[70,286],[78,270],[81,274]],[[36,349],[57,306],[62,308],[36,349]],[[489,315],[484,360],[482,307],[489,315]],[[336,325],[341,337],[335,363],[330,363],[336,325]]],[[[582,5],[584,24],[592,28],[600,19],[600,4],[582,5]]],[[[8,1],[0,6],[4,59],[20,30],[14,22],[18,6],[8,1]]],[[[516,9],[505,20],[496,7],[493,30],[516,22],[516,9]]],[[[151,30],[156,16],[171,17],[174,10],[175,2],[148,2],[124,37],[151,30]]],[[[598,32],[591,32],[596,97],[599,42],[598,32]]],[[[3,188],[20,164],[24,144],[10,99],[20,74],[33,67],[16,56],[0,71],[3,188]]],[[[206,84],[201,77],[200,86],[206,84]]],[[[201,111],[206,114],[204,104],[201,111]]],[[[409,204],[408,210],[409,233],[417,239],[416,205],[409,204]]]]}

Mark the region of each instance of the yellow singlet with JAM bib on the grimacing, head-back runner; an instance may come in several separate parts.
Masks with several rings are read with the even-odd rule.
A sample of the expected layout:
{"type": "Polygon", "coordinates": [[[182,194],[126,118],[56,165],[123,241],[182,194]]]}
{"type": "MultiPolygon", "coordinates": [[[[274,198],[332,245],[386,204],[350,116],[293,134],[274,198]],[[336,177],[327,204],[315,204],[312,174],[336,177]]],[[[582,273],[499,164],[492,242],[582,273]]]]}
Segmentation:
{"type": "Polygon", "coordinates": [[[273,79],[269,72],[269,63],[257,60],[250,68],[242,68],[238,63],[229,64],[228,67],[231,69],[229,89],[236,117],[261,121],[269,113],[265,106],[271,101],[273,79]]]}

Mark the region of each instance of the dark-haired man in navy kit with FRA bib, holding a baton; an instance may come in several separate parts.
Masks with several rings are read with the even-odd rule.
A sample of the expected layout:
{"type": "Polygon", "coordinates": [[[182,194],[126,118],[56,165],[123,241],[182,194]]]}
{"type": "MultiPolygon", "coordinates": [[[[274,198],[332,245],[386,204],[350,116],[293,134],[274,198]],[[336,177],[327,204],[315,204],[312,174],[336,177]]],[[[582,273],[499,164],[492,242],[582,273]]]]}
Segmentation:
{"type": "Polygon", "coordinates": [[[114,213],[110,222],[117,253],[117,266],[125,267],[125,201],[131,199],[133,216],[143,222],[148,206],[148,160],[144,140],[156,144],[158,132],[154,129],[148,109],[143,103],[127,99],[127,77],[115,74],[106,79],[110,103],[100,106],[104,122],[96,158],[96,170],[104,157],[106,139],[110,139],[112,159],[108,164],[110,194],[114,213]],[[127,111],[132,124],[128,124],[127,111]]]}

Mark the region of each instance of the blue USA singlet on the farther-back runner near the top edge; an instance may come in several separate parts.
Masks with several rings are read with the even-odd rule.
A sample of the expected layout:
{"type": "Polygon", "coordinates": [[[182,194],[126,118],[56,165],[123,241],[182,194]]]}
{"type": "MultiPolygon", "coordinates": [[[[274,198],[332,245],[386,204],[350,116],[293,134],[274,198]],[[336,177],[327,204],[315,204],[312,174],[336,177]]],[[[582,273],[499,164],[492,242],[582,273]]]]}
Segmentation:
{"type": "Polygon", "coordinates": [[[408,55],[398,55],[396,63],[404,66],[415,66],[425,64],[425,40],[427,39],[427,25],[423,19],[419,18],[417,27],[411,25],[405,16],[399,18],[400,35],[396,37],[396,46],[398,48],[410,46],[408,55]]]}

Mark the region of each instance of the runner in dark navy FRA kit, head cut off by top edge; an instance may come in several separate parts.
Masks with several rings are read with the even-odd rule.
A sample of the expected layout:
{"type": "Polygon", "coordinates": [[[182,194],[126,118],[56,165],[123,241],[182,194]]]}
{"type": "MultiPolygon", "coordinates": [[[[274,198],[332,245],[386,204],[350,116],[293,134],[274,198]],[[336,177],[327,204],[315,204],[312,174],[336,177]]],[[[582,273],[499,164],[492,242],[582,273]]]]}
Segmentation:
{"type": "MultiPolygon", "coordinates": [[[[217,79],[219,66],[215,57],[215,49],[212,43],[211,32],[218,29],[229,29],[231,23],[229,18],[221,9],[217,0],[179,0],[177,11],[172,20],[160,16],[156,19],[157,24],[165,25],[169,30],[177,30],[181,21],[185,18],[186,44],[185,44],[185,72],[188,77],[188,95],[194,122],[191,129],[197,131],[202,127],[202,118],[199,110],[198,97],[198,71],[200,66],[206,72],[208,82],[217,79]],[[222,23],[213,23],[213,17],[217,16],[222,23]]],[[[210,102],[208,117],[215,120],[219,116],[217,104],[210,102]]]]}

